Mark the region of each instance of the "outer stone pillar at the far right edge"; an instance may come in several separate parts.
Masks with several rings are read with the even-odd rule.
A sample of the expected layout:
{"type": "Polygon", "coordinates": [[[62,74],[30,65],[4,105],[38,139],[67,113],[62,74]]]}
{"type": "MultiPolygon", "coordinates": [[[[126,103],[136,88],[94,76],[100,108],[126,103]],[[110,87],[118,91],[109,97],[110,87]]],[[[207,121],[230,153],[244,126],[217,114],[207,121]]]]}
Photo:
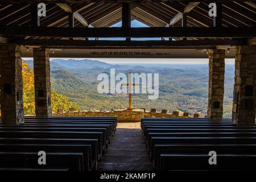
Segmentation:
{"type": "Polygon", "coordinates": [[[256,46],[237,46],[232,122],[255,125],[256,46]]]}

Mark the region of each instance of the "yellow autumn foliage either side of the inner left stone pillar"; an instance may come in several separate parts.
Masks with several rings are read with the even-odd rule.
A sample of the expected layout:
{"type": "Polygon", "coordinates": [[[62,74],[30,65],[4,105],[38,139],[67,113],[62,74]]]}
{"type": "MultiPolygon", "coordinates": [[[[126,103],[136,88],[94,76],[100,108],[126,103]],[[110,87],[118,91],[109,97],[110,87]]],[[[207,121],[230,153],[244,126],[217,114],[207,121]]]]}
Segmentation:
{"type": "MultiPolygon", "coordinates": [[[[28,66],[26,61],[22,62],[22,76],[23,76],[23,100],[24,100],[24,114],[35,114],[35,87],[34,87],[34,71],[28,66]]],[[[64,111],[73,107],[79,109],[68,101],[67,96],[63,96],[56,92],[51,92],[52,111],[56,112],[58,107],[62,107],[64,111]]]]}

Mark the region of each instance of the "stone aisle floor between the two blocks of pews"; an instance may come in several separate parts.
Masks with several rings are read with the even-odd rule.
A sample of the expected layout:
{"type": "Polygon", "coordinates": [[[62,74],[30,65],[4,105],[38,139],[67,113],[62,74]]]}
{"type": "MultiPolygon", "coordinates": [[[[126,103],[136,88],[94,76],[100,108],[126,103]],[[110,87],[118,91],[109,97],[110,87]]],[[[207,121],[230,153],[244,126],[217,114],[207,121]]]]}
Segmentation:
{"type": "Polygon", "coordinates": [[[153,170],[141,132],[141,123],[118,122],[117,132],[98,164],[99,170],[153,170]]]}

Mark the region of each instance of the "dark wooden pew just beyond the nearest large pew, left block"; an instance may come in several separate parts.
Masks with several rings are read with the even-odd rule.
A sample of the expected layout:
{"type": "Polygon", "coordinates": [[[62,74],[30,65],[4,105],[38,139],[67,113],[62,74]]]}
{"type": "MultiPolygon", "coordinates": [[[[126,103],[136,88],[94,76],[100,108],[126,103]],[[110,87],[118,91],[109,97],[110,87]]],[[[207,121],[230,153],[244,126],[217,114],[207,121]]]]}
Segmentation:
{"type": "Polygon", "coordinates": [[[39,152],[45,151],[46,155],[48,152],[71,152],[71,153],[82,153],[83,166],[82,171],[88,171],[93,168],[92,164],[92,150],[90,144],[1,144],[1,152],[39,152]]]}

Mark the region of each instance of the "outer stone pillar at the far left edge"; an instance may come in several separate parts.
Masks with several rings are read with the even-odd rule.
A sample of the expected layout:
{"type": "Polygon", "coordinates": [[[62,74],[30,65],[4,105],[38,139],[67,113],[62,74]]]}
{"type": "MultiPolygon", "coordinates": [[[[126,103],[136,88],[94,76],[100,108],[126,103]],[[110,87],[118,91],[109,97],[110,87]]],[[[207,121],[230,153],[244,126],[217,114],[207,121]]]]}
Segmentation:
{"type": "Polygon", "coordinates": [[[23,123],[21,47],[16,44],[0,46],[0,90],[2,123],[23,123]]]}

